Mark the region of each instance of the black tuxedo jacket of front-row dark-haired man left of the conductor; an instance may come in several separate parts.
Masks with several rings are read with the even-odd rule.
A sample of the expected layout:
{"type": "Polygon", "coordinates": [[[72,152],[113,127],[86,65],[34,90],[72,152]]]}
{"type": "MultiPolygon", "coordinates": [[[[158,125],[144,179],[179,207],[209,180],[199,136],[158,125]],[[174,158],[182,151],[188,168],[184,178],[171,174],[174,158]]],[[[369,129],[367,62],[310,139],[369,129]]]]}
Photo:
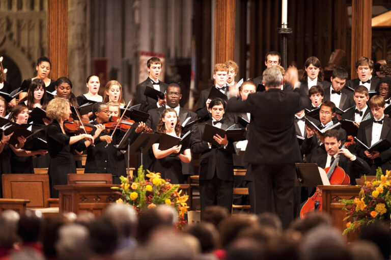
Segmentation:
{"type": "MultiPolygon", "coordinates": [[[[193,153],[200,153],[200,180],[211,180],[216,172],[219,180],[233,181],[234,180],[234,166],[232,154],[235,153],[233,143],[228,142],[228,146],[209,148],[208,142],[202,140],[204,134],[205,124],[212,125],[212,120],[197,125],[194,141],[191,145],[193,153]]],[[[227,129],[232,125],[232,122],[224,121],[221,124],[221,129],[227,129]]]]}

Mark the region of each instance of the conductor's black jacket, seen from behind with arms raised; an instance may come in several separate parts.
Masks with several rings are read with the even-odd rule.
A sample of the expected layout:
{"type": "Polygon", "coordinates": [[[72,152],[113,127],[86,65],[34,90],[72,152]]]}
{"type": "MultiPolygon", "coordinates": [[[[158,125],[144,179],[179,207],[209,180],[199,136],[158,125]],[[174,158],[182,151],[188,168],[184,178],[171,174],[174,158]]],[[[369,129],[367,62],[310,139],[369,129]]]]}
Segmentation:
{"type": "Polygon", "coordinates": [[[248,95],[247,100],[230,98],[227,110],[249,112],[251,134],[245,156],[254,164],[294,163],[300,161],[294,115],[311,105],[310,99],[298,91],[269,89],[248,95]]]}

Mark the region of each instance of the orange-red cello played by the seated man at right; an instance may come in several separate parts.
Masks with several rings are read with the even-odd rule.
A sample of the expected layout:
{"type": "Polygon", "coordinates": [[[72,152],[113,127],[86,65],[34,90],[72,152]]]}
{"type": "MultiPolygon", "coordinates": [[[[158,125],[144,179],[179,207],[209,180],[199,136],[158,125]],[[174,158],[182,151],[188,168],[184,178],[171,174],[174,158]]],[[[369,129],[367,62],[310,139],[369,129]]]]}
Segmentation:
{"type": "MultiPolygon", "coordinates": [[[[347,148],[355,143],[353,136],[349,135],[347,139],[348,141],[344,143],[341,149],[347,148]]],[[[350,183],[349,175],[345,173],[343,168],[338,166],[340,157],[341,154],[338,154],[332,164],[324,169],[324,171],[327,172],[327,179],[329,180],[330,185],[349,185],[350,183]]],[[[305,201],[300,210],[300,218],[304,219],[306,214],[313,211],[322,211],[322,190],[318,187],[316,188],[314,195],[305,201]]]]}

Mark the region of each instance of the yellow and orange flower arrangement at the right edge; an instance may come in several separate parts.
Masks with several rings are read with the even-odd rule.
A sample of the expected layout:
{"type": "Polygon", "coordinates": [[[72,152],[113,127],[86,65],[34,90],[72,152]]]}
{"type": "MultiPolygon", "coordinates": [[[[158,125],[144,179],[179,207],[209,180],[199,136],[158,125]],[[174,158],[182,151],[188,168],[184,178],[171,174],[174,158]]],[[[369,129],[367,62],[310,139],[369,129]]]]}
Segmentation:
{"type": "Polygon", "coordinates": [[[358,187],[361,187],[358,198],[340,200],[348,212],[345,219],[353,219],[346,224],[344,235],[377,220],[391,224],[391,170],[383,175],[381,168],[378,168],[372,182],[366,181],[364,186],[358,187]]]}

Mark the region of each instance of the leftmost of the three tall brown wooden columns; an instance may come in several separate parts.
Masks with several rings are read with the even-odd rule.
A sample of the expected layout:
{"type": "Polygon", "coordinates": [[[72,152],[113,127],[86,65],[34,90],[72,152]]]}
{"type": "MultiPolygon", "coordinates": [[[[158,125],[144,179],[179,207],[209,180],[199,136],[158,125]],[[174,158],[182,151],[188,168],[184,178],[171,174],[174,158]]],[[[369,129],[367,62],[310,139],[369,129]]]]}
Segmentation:
{"type": "Polygon", "coordinates": [[[47,45],[49,77],[68,77],[68,0],[47,1],[47,45]]]}

